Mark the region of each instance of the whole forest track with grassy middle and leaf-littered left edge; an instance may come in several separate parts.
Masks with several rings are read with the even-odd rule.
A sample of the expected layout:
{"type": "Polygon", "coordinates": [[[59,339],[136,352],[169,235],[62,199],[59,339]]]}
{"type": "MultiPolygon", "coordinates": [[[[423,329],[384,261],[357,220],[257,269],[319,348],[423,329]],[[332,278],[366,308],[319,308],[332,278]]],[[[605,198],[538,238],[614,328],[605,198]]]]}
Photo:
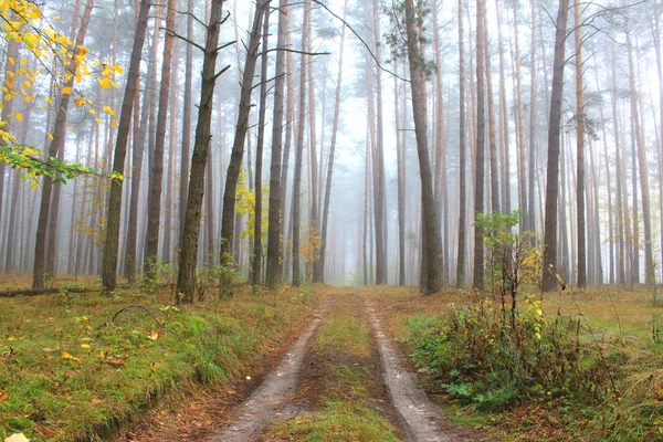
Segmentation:
{"type": "Polygon", "coordinates": [[[318,299],[280,360],[263,366],[260,383],[189,393],[115,441],[304,441],[314,433],[367,442],[485,440],[451,424],[417,387],[389,335],[393,317],[383,314],[399,305],[349,287],[327,288],[318,299]]]}

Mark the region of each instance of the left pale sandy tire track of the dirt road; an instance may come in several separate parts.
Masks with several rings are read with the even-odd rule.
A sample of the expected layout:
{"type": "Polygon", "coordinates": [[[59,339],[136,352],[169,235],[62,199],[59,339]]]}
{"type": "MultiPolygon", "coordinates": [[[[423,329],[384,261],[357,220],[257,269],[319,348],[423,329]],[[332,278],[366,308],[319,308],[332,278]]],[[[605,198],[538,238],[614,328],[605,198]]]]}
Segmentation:
{"type": "Polygon", "coordinates": [[[296,415],[297,409],[286,401],[298,383],[297,373],[302,368],[306,347],[327,313],[326,301],[323,301],[311,324],[285,354],[278,367],[262,381],[246,401],[231,412],[231,423],[213,435],[212,441],[254,441],[270,422],[296,415]]]}

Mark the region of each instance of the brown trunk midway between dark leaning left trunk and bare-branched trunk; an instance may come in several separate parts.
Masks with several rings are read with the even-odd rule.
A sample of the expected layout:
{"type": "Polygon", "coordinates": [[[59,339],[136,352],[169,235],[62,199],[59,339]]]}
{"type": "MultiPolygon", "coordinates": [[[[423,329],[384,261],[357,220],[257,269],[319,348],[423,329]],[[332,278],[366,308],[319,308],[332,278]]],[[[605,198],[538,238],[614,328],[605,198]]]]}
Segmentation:
{"type": "Polygon", "coordinates": [[[144,272],[148,280],[158,275],[157,260],[159,252],[159,233],[161,220],[161,190],[164,185],[164,148],[166,145],[166,125],[168,122],[168,104],[170,94],[170,72],[172,70],[172,33],[175,32],[175,0],[168,0],[166,19],[166,38],[164,39],[164,61],[159,88],[159,113],[157,115],[157,134],[155,151],[150,164],[149,196],[147,209],[147,238],[144,259],[144,272]]]}

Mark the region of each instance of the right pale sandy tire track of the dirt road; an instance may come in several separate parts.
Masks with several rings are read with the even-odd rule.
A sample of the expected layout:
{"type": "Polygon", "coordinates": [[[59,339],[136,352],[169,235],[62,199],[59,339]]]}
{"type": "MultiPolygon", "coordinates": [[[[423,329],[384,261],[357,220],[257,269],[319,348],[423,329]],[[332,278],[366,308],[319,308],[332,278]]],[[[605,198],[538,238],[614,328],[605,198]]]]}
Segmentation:
{"type": "Polygon", "coordinates": [[[414,377],[401,356],[382,333],[375,301],[365,299],[365,309],[378,344],[385,382],[389,387],[393,406],[402,417],[409,439],[414,442],[473,441],[474,439],[457,436],[453,430],[445,428],[449,424],[444,424],[439,408],[417,387],[414,377]]]}

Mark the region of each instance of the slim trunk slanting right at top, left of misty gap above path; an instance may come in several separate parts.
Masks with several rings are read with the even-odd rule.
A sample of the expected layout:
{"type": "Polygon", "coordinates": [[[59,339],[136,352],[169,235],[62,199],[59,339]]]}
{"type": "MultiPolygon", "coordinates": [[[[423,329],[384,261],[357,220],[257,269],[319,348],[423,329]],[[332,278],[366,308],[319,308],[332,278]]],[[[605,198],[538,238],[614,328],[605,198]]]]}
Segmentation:
{"type": "MultiPolygon", "coordinates": [[[[347,17],[348,1],[345,0],[343,17],[347,17]]],[[[313,267],[313,282],[325,282],[325,254],[327,251],[327,229],[329,221],[329,201],[332,199],[332,178],[334,175],[334,154],[336,152],[336,137],[338,134],[338,119],[340,116],[340,92],[343,84],[343,53],[345,48],[346,28],[340,31],[338,50],[338,75],[336,77],[336,96],[334,98],[334,123],[332,124],[332,143],[329,145],[329,159],[327,161],[327,182],[325,185],[325,199],[323,203],[323,228],[320,230],[320,254],[313,267]]]]}

